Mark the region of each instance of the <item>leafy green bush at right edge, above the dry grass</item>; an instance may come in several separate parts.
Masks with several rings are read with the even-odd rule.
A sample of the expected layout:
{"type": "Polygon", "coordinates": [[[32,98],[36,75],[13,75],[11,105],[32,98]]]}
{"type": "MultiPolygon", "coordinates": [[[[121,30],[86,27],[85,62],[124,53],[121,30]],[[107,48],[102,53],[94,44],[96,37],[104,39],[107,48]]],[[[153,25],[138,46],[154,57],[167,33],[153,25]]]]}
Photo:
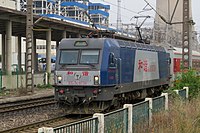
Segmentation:
{"type": "Polygon", "coordinates": [[[190,98],[195,98],[200,92],[200,77],[195,70],[189,69],[187,72],[179,74],[175,81],[172,90],[180,90],[183,87],[189,87],[190,98]]]}

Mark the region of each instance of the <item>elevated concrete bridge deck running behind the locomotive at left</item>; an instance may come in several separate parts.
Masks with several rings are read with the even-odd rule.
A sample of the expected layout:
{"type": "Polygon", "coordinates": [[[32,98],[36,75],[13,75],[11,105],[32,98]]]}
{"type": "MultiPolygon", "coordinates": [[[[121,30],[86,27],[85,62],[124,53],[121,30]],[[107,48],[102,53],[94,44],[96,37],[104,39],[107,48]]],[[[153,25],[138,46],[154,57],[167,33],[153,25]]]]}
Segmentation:
{"type": "MultiPolygon", "coordinates": [[[[7,21],[12,21],[12,36],[26,36],[26,13],[12,10],[4,7],[0,7],[0,34],[5,34],[6,28],[5,23],[7,21]]],[[[92,27],[87,27],[73,22],[66,22],[57,19],[41,17],[39,15],[34,15],[34,37],[37,39],[46,39],[45,29],[51,28],[52,31],[52,41],[59,41],[62,39],[63,31],[66,31],[67,37],[77,37],[78,35],[87,35],[91,31],[96,29],[92,27]]],[[[133,40],[134,38],[115,34],[115,38],[133,40]]]]}

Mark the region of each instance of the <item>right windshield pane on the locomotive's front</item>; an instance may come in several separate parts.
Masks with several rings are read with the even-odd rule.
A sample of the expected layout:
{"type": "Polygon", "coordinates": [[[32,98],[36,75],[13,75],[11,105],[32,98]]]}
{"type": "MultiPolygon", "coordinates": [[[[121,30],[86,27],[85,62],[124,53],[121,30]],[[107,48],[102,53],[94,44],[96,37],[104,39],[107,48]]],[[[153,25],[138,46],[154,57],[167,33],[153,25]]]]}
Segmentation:
{"type": "Polygon", "coordinates": [[[81,64],[97,64],[99,62],[99,50],[82,50],[81,64]]]}

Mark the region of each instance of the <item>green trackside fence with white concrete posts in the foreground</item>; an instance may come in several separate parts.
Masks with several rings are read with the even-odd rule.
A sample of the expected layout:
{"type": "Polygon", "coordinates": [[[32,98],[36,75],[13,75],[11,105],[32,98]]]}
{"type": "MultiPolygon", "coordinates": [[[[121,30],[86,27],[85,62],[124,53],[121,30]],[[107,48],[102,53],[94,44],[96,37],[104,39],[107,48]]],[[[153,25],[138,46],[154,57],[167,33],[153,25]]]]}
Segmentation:
{"type": "MultiPolygon", "coordinates": [[[[175,90],[182,99],[188,98],[188,87],[175,90]]],[[[102,114],[95,113],[93,118],[66,124],[56,128],[42,127],[38,133],[135,133],[145,131],[156,112],[168,110],[168,93],[155,98],[146,98],[137,104],[125,104],[122,109],[102,114]],[[138,130],[137,130],[138,129],[138,130]]]]}

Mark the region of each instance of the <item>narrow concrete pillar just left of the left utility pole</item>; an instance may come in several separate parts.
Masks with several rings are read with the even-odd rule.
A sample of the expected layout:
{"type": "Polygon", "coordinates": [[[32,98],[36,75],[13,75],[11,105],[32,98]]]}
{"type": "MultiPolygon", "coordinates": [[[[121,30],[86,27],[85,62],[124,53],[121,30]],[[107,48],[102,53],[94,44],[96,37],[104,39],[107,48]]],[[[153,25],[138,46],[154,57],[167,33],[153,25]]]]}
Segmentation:
{"type": "Polygon", "coordinates": [[[19,73],[21,73],[22,71],[22,38],[21,36],[18,36],[17,38],[17,42],[18,42],[18,69],[19,69],[19,73]]]}

